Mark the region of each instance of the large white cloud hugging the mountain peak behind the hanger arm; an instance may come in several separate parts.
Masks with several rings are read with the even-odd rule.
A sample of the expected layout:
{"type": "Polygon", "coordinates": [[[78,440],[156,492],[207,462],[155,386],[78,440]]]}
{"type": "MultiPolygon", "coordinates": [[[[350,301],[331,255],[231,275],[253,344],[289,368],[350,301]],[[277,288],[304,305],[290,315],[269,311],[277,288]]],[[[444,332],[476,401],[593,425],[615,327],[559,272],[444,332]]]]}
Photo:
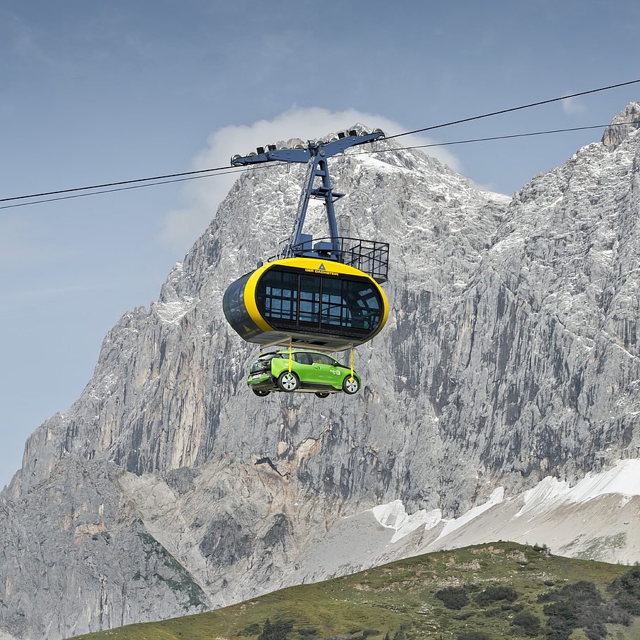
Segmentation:
{"type": "MultiPolygon", "coordinates": [[[[371,128],[381,128],[387,135],[395,135],[407,130],[406,127],[388,118],[355,109],[329,111],[320,107],[304,109],[293,106],[273,120],[259,120],[252,125],[229,125],[217,130],[209,136],[207,147],[193,160],[193,169],[198,171],[218,166],[230,168],[230,157],[234,154],[245,155],[256,147],[279,140],[290,140],[293,137],[311,140],[328,133],[335,133],[355,123],[362,123],[371,128]]],[[[433,140],[420,135],[402,137],[399,142],[405,147],[433,144],[433,140]]],[[[448,150],[429,147],[425,152],[459,171],[459,161],[448,150]]],[[[228,173],[223,176],[195,180],[185,187],[185,198],[190,204],[183,209],[171,211],[165,216],[161,239],[179,250],[186,251],[207,228],[218,205],[227,195],[236,178],[238,178],[237,175],[228,173]]]]}

